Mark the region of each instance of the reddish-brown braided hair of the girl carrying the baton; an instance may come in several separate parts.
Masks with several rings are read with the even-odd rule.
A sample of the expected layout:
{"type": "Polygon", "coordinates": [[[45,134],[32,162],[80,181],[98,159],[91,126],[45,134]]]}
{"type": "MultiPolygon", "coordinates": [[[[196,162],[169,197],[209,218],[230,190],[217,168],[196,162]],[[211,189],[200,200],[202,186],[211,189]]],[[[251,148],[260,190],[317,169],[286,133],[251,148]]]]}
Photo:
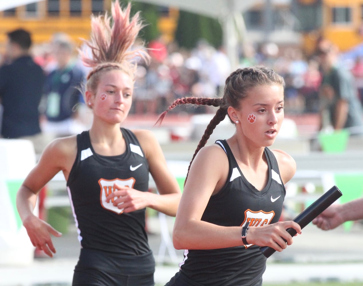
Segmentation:
{"type": "MultiPolygon", "coordinates": [[[[180,98],[175,100],[169,108],[164,111],[160,116],[156,124],[159,125],[162,123],[166,114],[180,104],[194,104],[194,105],[212,105],[215,107],[219,107],[216,111],[216,115],[209,122],[207,128],[204,131],[204,134],[199,141],[199,144],[193,154],[193,157],[189,163],[187,177],[185,178],[185,182],[187,181],[190,166],[199,152],[199,150],[205,146],[207,140],[213,133],[213,130],[216,126],[224,120],[225,116],[228,114],[228,107],[231,106],[235,109],[240,108],[241,100],[247,96],[248,91],[251,88],[262,86],[262,85],[273,85],[273,84],[281,84],[285,87],[284,78],[274,72],[272,69],[269,69],[265,66],[254,66],[254,67],[246,67],[244,69],[237,69],[233,71],[226,79],[224,86],[224,94],[222,98],[196,98],[196,97],[187,97],[180,98]]],[[[229,118],[233,124],[234,121],[229,118]]]]}

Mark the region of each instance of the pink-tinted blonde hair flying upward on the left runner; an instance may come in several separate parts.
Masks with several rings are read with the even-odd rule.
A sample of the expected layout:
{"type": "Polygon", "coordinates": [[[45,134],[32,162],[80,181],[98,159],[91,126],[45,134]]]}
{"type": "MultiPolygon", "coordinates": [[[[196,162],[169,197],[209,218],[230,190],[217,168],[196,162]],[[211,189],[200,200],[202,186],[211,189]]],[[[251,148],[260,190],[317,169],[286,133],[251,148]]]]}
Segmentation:
{"type": "Polygon", "coordinates": [[[90,55],[86,50],[79,50],[83,64],[92,68],[87,75],[87,90],[94,92],[97,89],[102,72],[122,70],[134,78],[136,58],[141,57],[146,62],[150,59],[143,45],[135,49],[132,47],[144,25],[139,12],[132,18],[130,12],[130,3],[122,10],[119,2],[115,1],[111,5],[112,18],[107,12],[104,16],[91,16],[90,40],[83,40],[90,49],[90,55]]]}

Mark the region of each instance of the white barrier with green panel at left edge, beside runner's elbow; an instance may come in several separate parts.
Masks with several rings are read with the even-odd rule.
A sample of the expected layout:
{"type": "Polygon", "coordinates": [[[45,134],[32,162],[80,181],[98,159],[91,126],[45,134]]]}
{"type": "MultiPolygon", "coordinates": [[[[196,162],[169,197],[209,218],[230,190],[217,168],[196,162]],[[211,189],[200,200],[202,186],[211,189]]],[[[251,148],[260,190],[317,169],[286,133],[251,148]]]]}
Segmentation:
{"type": "Polygon", "coordinates": [[[0,139],[0,265],[33,262],[34,247],[16,209],[16,193],[35,163],[31,141],[0,139]]]}

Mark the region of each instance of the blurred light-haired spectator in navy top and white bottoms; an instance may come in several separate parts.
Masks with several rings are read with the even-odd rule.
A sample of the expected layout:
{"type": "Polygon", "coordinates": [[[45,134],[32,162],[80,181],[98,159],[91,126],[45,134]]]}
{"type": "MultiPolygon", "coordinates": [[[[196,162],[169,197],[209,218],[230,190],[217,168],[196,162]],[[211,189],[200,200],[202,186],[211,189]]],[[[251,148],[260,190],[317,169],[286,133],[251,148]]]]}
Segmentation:
{"type": "Polygon", "coordinates": [[[77,134],[85,127],[77,120],[77,104],[83,101],[80,88],[85,82],[84,70],[77,65],[74,43],[66,34],[56,34],[52,54],[56,68],[48,75],[44,93],[45,120],[42,129],[53,137],[77,134]]]}

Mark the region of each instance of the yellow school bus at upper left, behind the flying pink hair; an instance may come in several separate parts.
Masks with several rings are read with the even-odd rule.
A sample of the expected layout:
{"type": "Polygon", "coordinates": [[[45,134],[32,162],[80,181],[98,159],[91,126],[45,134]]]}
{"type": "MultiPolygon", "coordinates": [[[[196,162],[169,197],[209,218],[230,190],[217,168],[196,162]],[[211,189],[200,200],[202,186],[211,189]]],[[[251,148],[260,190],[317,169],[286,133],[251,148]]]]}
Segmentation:
{"type": "Polygon", "coordinates": [[[34,44],[49,41],[64,32],[76,42],[89,38],[91,13],[109,10],[111,0],[43,0],[0,12],[0,45],[6,33],[24,28],[32,33],[34,44]]]}

